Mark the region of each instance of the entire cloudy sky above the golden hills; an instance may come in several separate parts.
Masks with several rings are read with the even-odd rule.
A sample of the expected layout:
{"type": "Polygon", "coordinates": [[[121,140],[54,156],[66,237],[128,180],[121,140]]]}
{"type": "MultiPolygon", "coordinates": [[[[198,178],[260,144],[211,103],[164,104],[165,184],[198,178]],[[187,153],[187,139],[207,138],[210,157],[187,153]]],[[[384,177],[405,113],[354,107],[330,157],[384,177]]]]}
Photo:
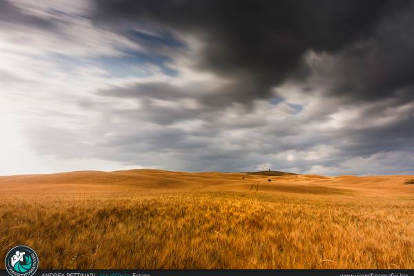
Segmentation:
{"type": "Polygon", "coordinates": [[[0,175],[413,175],[413,26],[400,0],[0,0],[0,175]]]}

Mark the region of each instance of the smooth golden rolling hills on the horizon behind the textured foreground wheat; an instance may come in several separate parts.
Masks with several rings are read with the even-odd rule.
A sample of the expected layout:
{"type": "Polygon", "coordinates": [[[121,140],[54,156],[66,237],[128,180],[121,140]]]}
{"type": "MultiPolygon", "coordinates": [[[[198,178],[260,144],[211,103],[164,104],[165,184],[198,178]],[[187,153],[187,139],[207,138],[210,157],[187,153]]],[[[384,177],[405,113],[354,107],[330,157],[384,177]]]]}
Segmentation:
{"type": "MultiPolygon", "coordinates": [[[[167,170],[79,171],[47,175],[0,176],[0,200],[23,195],[164,195],[172,193],[255,193],[267,195],[404,196],[414,199],[414,185],[404,182],[414,175],[324,177],[291,172],[173,172],[167,170]],[[271,181],[268,181],[269,178],[271,181]]],[[[30,197],[28,197],[30,198],[30,197]]],[[[0,204],[0,217],[1,209],[0,204]]],[[[0,227],[1,236],[1,227],[0,227]]]]}

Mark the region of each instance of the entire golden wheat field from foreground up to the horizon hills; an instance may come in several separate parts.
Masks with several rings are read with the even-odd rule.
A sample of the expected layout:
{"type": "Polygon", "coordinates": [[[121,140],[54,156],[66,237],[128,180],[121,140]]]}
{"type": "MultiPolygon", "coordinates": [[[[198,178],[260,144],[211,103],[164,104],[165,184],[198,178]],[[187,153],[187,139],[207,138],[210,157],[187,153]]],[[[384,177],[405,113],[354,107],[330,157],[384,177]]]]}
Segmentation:
{"type": "Polygon", "coordinates": [[[40,268],[414,268],[411,178],[0,177],[0,257],[23,244],[40,268]]]}

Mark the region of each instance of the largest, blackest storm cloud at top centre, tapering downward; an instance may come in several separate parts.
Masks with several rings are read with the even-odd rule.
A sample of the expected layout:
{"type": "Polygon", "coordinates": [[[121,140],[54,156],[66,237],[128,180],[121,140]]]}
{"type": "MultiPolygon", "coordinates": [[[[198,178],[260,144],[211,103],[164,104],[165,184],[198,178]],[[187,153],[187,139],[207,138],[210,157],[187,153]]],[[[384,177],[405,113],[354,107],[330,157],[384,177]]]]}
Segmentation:
{"type": "Polygon", "coordinates": [[[270,88],[287,77],[305,77],[306,51],[334,53],[365,39],[380,19],[407,2],[96,0],[95,4],[99,24],[133,21],[199,37],[203,50],[198,68],[237,79],[242,85],[223,94],[230,95],[226,99],[230,102],[248,103],[270,97],[270,88]]]}

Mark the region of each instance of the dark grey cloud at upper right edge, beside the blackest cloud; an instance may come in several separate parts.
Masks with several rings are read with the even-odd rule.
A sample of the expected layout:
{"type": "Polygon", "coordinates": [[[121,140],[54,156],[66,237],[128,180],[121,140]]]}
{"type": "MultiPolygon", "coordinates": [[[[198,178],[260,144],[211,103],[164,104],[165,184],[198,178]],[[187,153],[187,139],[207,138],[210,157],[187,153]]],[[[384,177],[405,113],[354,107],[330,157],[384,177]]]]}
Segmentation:
{"type": "Polygon", "coordinates": [[[414,6],[385,18],[366,39],[337,55],[331,94],[348,100],[387,97],[412,101],[414,95],[414,6]]]}

